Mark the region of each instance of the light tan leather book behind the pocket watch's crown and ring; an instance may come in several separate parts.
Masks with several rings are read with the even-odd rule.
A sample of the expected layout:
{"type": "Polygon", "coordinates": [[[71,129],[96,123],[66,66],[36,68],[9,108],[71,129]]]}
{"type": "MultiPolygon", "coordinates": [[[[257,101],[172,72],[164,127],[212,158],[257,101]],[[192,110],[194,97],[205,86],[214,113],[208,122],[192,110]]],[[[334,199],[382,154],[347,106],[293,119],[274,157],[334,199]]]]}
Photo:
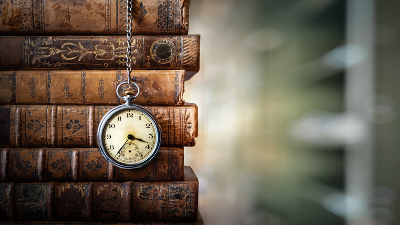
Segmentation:
{"type": "MultiPolygon", "coordinates": [[[[131,79],[141,88],[134,103],[182,105],[185,70],[136,70],[131,79]]],[[[0,104],[120,104],[121,70],[0,71],[0,104]]]]}

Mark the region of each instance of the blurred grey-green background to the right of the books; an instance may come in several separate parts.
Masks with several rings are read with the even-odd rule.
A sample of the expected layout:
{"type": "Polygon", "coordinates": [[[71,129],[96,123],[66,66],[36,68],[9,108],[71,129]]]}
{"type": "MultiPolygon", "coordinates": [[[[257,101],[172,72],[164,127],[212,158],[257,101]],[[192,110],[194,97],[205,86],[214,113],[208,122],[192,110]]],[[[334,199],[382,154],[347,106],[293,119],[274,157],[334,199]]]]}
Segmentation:
{"type": "Polygon", "coordinates": [[[400,224],[400,1],[192,0],[205,224],[400,224]]]}

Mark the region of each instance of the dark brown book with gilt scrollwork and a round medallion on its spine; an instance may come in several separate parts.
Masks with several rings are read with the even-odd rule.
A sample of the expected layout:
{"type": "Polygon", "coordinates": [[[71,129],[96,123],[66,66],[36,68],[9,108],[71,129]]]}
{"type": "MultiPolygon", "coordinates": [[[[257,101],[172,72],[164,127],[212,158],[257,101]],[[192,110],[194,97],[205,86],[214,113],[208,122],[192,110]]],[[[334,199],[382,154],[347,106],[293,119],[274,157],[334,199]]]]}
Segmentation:
{"type": "MultiPolygon", "coordinates": [[[[126,69],[126,36],[0,36],[0,69],[126,69]]],[[[132,70],[199,69],[199,35],[132,36],[132,70]]]]}

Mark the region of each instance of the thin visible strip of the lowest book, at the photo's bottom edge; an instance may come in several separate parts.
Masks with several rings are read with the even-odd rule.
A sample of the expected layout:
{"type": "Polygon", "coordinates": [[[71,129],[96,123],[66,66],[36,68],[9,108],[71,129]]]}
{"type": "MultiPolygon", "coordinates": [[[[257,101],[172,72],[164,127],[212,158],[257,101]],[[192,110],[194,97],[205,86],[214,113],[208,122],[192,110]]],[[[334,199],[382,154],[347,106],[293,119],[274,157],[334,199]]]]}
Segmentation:
{"type": "Polygon", "coordinates": [[[71,221],[1,221],[2,224],[12,224],[12,225],[203,225],[204,220],[200,213],[197,213],[197,219],[191,221],[148,221],[148,222],[71,222],[71,221]]]}

